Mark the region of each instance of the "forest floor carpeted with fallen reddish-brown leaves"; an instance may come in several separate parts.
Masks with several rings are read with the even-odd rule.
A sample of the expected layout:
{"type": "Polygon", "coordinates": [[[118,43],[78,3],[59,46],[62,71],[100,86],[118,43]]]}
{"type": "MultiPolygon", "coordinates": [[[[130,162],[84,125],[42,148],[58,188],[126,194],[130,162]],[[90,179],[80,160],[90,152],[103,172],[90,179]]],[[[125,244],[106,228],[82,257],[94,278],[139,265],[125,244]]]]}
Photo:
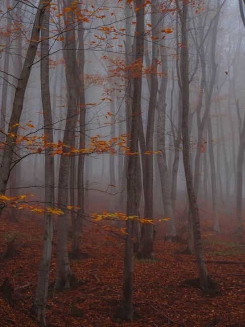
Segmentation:
{"type": "MultiPolygon", "coordinates": [[[[1,327],[37,326],[29,309],[42,249],[39,217],[21,217],[17,223],[8,219],[0,222],[0,252],[6,250],[8,241],[15,235],[18,250],[14,258],[0,262],[0,285],[9,277],[14,288],[25,286],[13,292],[12,306],[0,294],[1,327]]],[[[212,231],[212,221],[202,219],[207,268],[218,285],[218,291],[208,294],[186,282],[197,277],[194,256],[180,253],[185,249],[184,243],[165,242],[159,227],[154,244],[156,259],[135,260],[137,319],[123,323],[117,316],[122,288],[123,240],[113,239],[106,231],[98,232],[93,225],[87,224],[82,247],[88,258],[70,262],[72,272],[85,283],[54,297],[50,292],[48,326],[245,326],[245,235],[233,233],[232,220],[222,218],[221,233],[217,234],[212,231]]],[[[69,246],[70,242],[71,239],[69,246]]],[[[56,269],[55,246],[53,250],[50,284],[55,279],[56,269]]]]}

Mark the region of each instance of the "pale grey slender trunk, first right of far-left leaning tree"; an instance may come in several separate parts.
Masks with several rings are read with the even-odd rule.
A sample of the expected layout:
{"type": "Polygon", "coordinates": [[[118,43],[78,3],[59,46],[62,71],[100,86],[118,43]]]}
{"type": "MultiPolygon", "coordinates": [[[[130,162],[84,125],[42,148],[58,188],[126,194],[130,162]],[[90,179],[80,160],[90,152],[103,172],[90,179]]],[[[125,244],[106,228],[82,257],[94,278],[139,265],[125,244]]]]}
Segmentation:
{"type": "MultiPolygon", "coordinates": [[[[43,105],[43,120],[45,141],[53,142],[52,110],[49,91],[49,8],[44,11],[42,17],[41,32],[41,95],[43,105]]],[[[46,207],[54,206],[54,158],[51,155],[52,146],[45,149],[45,203],[46,207]]],[[[44,243],[41,263],[38,273],[37,289],[34,298],[32,311],[36,313],[41,325],[46,325],[45,313],[48,297],[48,279],[50,261],[52,255],[53,239],[53,216],[52,213],[45,213],[44,216],[44,243]]]]}

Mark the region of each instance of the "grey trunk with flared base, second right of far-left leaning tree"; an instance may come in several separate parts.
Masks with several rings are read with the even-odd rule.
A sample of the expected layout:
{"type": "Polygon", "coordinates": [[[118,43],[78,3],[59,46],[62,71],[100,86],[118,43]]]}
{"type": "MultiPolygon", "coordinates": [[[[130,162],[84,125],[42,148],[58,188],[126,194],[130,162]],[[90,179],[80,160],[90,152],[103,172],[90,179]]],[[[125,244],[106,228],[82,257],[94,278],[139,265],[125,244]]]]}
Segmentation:
{"type": "MultiPolygon", "coordinates": [[[[63,1],[64,7],[67,3],[63,1]]],[[[67,24],[72,25],[70,15],[64,15],[67,24]]],[[[63,144],[71,145],[74,137],[75,120],[77,119],[78,109],[78,71],[76,62],[76,36],[73,28],[69,29],[65,34],[64,43],[64,59],[65,59],[65,76],[67,80],[67,117],[65,123],[65,131],[63,136],[63,144]]],[[[62,205],[63,215],[58,220],[58,238],[57,238],[57,271],[55,280],[55,290],[69,288],[72,282],[72,273],[69,266],[68,250],[67,250],[67,228],[68,228],[68,177],[69,177],[69,161],[70,157],[66,155],[69,149],[63,146],[63,154],[60,157],[59,179],[58,179],[58,204],[62,205]]]]}

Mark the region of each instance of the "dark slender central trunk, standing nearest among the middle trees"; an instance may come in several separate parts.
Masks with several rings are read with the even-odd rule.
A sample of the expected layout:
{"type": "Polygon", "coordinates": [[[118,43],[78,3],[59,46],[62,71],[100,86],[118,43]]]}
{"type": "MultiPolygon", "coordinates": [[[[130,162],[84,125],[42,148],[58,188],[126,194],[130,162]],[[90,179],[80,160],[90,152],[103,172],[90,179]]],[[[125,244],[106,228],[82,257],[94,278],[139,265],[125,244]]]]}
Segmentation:
{"type": "MultiPolygon", "coordinates": [[[[136,15],[136,63],[139,65],[138,74],[134,77],[134,91],[131,114],[131,131],[130,131],[130,152],[138,151],[139,137],[139,118],[141,110],[141,79],[142,64],[144,55],[144,7],[140,0],[136,0],[135,8],[139,9],[136,15]]],[[[128,156],[127,167],[127,215],[138,216],[139,200],[138,200],[138,181],[137,181],[137,155],[128,156]]],[[[127,320],[133,318],[133,229],[134,220],[128,219],[127,238],[125,240],[124,250],[124,271],[123,271],[123,289],[122,289],[122,316],[127,320]]]]}

